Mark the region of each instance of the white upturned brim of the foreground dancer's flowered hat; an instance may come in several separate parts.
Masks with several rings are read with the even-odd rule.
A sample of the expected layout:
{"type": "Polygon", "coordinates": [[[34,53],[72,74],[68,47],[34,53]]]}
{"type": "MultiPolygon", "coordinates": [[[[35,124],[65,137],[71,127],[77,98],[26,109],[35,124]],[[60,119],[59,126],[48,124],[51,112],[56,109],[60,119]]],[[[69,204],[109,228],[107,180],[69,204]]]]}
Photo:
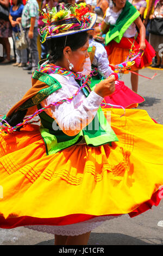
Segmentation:
{"type": "Polygon", "coordinates": [[[72,30],[72,31],[67,31],[67,32],[60,32],[55,35],[49,35],[46,37],[46,40],[51,39],[51,38],[59,38],[60,36],[72,35],[72,34],[77,34],[77,33],[85,32],[85,31],[94,30],[93,26],[95,25],[96,20],[97,20],[97,14],[92,14],[91,23],[88,28],[84,28],[84,29],[80,29],[80,30],[72,30]]]}

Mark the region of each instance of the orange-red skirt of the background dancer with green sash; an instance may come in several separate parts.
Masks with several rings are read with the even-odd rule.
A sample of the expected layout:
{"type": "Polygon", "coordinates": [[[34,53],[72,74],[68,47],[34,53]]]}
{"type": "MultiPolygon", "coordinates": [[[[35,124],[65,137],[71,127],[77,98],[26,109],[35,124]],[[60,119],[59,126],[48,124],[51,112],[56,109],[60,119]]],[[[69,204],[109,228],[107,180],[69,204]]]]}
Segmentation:
{"type": "MultiPolygon", "coordinates": [[[[119,43],[112,40],[108,46],[105,46],[105,49],[109,56],[114,47],[130,50],[133,42],[134,42],[134,38],[122,38],[119,43]]],[[[133,47],[133,50],[135,50],[135,53],[139,52],[139,48],[140,48],[139,42],[140,42],[140,35],[138,34],[137,38],[135,39],[135,42],[134,42],[135,48],[133,47]]],[[[146,42],[146,50],[143,53],[143,56],[140,59],[140,62],[137,59],[137,65],[139,68],[143,68],[144,66],[147,66],[147,64],[150,64],[152,62],[153,57],[155,56],[154,48],[149,44],[149,42],[147,40],[145,42],[146,42]]],[[[135,61],[135,63],[136,63],[136,61],[135,61]]]]}

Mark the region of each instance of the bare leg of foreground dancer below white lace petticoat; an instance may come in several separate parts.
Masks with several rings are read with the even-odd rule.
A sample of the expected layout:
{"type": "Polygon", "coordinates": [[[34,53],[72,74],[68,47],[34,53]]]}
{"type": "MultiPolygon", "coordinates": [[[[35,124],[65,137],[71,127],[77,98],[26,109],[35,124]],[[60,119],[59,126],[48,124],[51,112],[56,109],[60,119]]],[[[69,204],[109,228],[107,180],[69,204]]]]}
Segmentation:
{"type": "Polygon", "coordinates": [[[68,236],[65,245],[87,245],[90,234],[91,232],[77,236],[68,236]]]}

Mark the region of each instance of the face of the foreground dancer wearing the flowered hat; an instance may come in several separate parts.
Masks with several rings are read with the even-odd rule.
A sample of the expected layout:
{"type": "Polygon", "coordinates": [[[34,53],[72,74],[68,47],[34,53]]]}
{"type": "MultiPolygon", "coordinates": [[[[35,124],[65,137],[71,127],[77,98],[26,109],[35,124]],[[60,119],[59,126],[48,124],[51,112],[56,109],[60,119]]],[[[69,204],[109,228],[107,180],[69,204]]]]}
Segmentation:
{"type": "Polygon", "coordinates": [[[86,58],[89,57],[87,49],[89,48],[89,38],[84,46],[78,48],[76,51],[72,51],[68,60],[73,64],[73,72],[82,72],[84,69],[84,63],[86,58]]]}

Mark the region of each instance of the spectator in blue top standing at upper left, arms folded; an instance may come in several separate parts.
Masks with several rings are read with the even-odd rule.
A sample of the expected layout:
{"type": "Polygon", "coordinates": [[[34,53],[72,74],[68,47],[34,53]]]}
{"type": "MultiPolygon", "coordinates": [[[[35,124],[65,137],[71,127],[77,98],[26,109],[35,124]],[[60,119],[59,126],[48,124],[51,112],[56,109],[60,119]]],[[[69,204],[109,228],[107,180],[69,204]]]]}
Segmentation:
{"type": "MultiPolygon", "coordinates": [[[[21,20],[22,11],[24,8],[24,5],[22,3],[22,0],[12,0],[11,8],[10,8],[10,14],[9,14],[9,20],[11,22],[12,26],[12,37],[14,40],[14,43],[16,41],[16,33],[18,32],[18,20],[21,20]]],[[[19,29],[20,30],[20,29],[19,29]]],[[[15,53],[16,53],[16,63],[13,64],[13,66],[23,67],[27,65],[27,50],[18,50],[16,48],[15,44],[15,53]]]]}

